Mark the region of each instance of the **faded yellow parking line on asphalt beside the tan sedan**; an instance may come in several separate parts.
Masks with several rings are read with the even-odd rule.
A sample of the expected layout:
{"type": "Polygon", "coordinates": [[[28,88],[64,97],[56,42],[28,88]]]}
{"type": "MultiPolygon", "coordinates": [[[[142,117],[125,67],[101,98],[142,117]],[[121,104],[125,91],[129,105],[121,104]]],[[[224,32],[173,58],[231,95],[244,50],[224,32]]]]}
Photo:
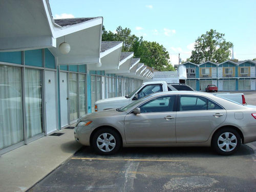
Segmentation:
{"type": "Polygon", "coordinates": [[[104,160],[104,161],[159,161],[159,162],[181,162],[187,160],[172,160],[172,159],[112,159],[112,158],[87,158],[87,157],[72,157],[71,159],[80,160],[104,160]]]}

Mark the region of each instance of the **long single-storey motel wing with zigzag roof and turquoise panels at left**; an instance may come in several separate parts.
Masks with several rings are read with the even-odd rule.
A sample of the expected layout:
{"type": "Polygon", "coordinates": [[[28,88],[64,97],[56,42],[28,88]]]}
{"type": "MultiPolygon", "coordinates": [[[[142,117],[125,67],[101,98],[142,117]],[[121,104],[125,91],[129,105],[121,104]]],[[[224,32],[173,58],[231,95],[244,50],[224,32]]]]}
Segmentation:
{"type": "Polygon", "coordinates": [[[153,77],[121,41],[101,41],[102,17],[53,19],[48,0],[0,7],[0,155],[153,77]]]}

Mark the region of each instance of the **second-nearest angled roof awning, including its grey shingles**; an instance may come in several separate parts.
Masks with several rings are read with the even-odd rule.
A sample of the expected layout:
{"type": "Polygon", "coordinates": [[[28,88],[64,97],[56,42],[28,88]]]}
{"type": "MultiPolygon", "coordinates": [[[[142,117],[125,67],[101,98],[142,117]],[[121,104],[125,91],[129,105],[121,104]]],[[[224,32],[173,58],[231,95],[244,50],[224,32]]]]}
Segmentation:
{"type": "Polygon", "coordinates": [[[102,41],[100,62],[101,66],[87,65],[88,70],[115,70],[119,69],[119,59],[122,51],[122,41],[102,41]]]}

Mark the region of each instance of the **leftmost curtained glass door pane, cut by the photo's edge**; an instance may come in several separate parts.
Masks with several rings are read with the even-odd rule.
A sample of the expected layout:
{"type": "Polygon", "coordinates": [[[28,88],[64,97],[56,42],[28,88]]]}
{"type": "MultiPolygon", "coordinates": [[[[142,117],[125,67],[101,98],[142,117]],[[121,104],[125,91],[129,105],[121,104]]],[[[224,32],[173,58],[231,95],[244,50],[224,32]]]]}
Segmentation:
{"type": "Polygon", "coordinates": [[[22,70],[0,66],[0,150],[24,140],[22,70]]]}

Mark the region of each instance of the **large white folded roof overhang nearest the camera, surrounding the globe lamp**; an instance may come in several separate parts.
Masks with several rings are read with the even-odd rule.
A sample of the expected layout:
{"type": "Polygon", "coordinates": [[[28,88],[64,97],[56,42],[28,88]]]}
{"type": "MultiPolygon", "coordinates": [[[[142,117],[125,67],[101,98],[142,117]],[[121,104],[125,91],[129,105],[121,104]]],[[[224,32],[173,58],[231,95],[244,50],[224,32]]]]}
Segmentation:
{"type": "Polygon", "coordinates": [[[100,62],[102,17],[61,27],[52,18],[48,0],[0,1],[0,7],[0,51],[49,48],[58,65],[100,62]],[[63,36],[71,47],[65,55],[58,50],[63,36]]]}

